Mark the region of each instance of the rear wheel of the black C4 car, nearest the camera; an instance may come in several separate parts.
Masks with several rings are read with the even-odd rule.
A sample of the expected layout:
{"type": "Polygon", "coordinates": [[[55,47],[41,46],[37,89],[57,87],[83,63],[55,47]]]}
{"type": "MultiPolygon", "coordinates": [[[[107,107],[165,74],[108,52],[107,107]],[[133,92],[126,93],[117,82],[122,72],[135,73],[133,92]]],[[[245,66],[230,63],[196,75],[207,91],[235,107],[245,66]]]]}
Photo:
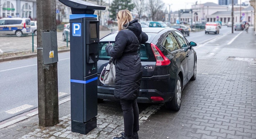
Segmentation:
{"type": "Polygon", "coordinates": [[[178,111],[180,109],[181,91],[182,91],[182,83],[181,83],[180,77],[178,76],[177,81],[176,81],[175,93],[173,95],[172,100],[165,103],[166,108],[173,110],[173,111],[178,111]]]}

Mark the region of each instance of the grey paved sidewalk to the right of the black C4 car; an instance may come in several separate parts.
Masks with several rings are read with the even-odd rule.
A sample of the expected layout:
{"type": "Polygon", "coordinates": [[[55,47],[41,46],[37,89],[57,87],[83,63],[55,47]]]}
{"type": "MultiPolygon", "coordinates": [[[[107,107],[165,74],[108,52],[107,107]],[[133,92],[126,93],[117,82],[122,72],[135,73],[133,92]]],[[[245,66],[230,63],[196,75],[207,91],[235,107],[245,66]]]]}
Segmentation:
{"type": "Polygon", "coordinates": [[[243,31],[227,45],[235,33],[196,49],[197,79],[182,91],[181,109],[161,107],[140,126],[140,136],[256,139],[256,64],[249,65],[256,63],[256,36],[243,31]]]}

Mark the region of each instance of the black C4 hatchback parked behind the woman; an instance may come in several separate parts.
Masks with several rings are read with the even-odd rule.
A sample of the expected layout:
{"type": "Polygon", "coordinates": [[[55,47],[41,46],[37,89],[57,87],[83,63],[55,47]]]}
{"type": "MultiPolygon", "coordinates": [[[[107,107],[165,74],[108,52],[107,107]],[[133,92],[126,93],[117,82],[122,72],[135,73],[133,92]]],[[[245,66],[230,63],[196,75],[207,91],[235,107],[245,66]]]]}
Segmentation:
{"type": "MultiPolygon", "coordinates": [[[[172,110],[179,110],[181,92],[189,80],[196,79],[197,54],[181,32],[172,28],[142,28],[148,41],[141,44],[142,81],[137,102],[166,103],[172,110]]],[[[114,86],[99,81],[100,73],[109,62],[106,45],[114,43],[117,31],[100,40],[98,61],[98,100],[116,100],[114,86]]]]}

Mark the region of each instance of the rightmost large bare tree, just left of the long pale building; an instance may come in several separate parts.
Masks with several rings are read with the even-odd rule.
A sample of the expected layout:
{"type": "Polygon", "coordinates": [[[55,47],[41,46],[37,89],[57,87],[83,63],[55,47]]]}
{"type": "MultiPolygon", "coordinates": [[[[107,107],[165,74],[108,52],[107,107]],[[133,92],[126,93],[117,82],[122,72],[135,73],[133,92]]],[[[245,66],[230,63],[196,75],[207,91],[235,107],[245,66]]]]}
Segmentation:
{"type": "Polygon", "coordinates": [[[164,3],[162,0],[149,0],[148,9],[153,21],[157,19],[157,13],[163,8],[164,3]]]}

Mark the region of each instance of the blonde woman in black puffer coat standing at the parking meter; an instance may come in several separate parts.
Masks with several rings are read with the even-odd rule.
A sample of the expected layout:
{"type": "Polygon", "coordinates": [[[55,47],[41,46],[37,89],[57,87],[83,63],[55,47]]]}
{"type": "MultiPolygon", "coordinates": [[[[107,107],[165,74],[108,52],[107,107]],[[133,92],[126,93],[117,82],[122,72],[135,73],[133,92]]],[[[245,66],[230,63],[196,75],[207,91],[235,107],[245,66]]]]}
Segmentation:
{"type": "Polygon", "coordinates": [[[139,47],[148,40],[137,19],[132,20],[128,10],[117,13],[118,34],[115,44],[106,46],[106,52],[114,58],[116,80],[114,96],[120,99],[124,116],[124,133],[114,139],[138,139],[139,109],[136,98],[142,78],[139,47]]]}

